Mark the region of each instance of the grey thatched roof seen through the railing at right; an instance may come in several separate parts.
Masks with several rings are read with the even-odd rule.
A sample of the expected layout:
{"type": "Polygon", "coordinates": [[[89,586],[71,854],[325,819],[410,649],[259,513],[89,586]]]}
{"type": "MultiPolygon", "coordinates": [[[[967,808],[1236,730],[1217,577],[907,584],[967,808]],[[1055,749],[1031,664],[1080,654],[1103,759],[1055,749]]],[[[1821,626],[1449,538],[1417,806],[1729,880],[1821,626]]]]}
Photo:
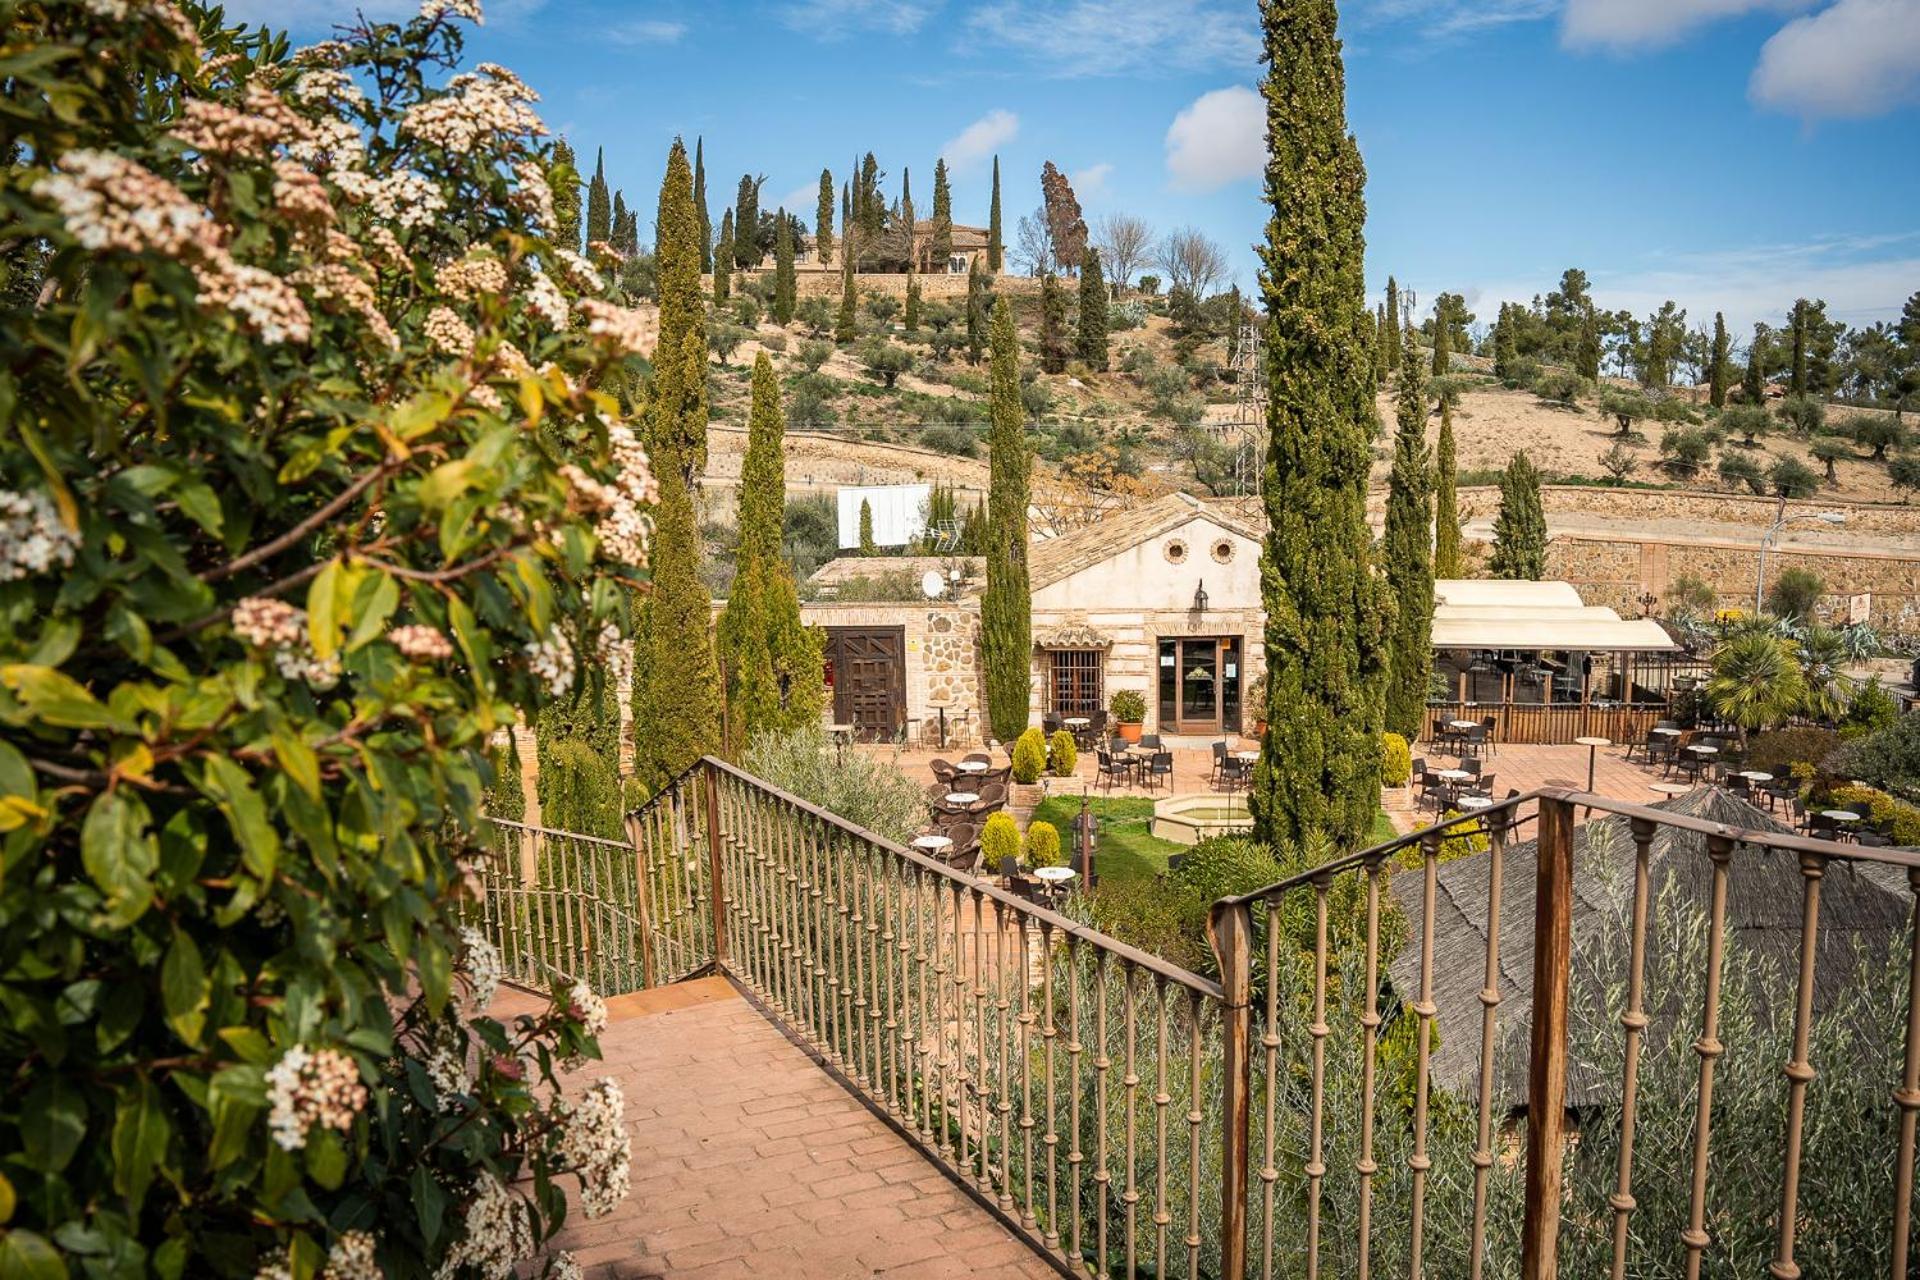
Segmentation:
{"type": "MultiPolygon", "coordinates": [[[[1653,808],[1699,818],[1705,821],[1745,827],[1751,831],[1780,831],[1768,814],[1753,808],[1718,787],[1699,787],[1653,808]]],[[[1532,1021],[1534,971],[1534,885],[1538,841],[1509,844],[1500,906],[1500,1013],[1501,1042],[1524,1046],[1532,1021]]],[[[1624,818],[1597,818],[1574,829],[1574,904],[1572,904],[1572,981],[1578,1006],[1597,1006],[1601,983],[1624,981],[1634,906],[1634,839],[1624,818]]],[[[1440,1044],[1432,1059],[1432,1079],[1444,1088],[1471,1090],[1480,1071],[1480,986],[1486,977],[1488,923],[1486,854],[1459,858],[1440,867],[1434,900],[1434,1004],[1440,1044]]],[[[1655,827],[1649,846],[1651,902],[1663,894],[1690,910],[1707,912],[1713,889],[1713,864],[1707,858],[1707,837],[1680,827],[1655,827]]],[[[1394,990],[1413,1002],[1421,981],[1421,883],[1419,871],[1398,871],[1392,894],[1404,912],[1407,942],[1388,963],[1394,990]]],[[[1740,844],[1734,850],[1728,875],[1726,923],[1730,963],[1741,956],[1772,960],[1788,981],[1770,990],[1776,1000],[1768,1013],[1793,1015],[1793,981],[1799,967],[1803,877],[1791,852],[1740,844]]],[[[1885,948],[1887,940],[1907,929],[1912,900],[1905,873],[1874,864],[1834,864],[1820,890],[1820,935],[1814,956],[1814,1004],[1828,998],[1849,981],[1860,946],[1885,948]]],[[[1651,927],[1649,927],[1651,933],[1651,927]]],[[[1667,1034],[1697,1031],[1701,992],[1647,992],[1647,1009],[1657,1015],[1667,1034]]],[[[1524,1054],[1498,1054],[1496,1092],[1507,1103],[1526,1096],[1524,1054]]],[[[1613,1067],[1617,1073],[1617,1065],[1613,1067]]],[[[1567,1100],[1572,1105],[1597,1102],[1617,1090],[1617,1080],[1590,1077],[1578,1063],[1569,1071],[1567,1100]]]]}

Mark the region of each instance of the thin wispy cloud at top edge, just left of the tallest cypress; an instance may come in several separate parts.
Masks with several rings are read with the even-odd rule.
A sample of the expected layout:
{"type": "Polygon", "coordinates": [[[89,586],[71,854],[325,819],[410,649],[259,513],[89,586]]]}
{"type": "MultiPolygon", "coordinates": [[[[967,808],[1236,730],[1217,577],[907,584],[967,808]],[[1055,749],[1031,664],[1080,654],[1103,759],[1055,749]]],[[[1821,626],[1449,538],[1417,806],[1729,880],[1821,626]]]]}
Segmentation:
{"type": "Polygon", "coordinates": [[[996,0],[968,25],[970,44],[998,44],[1062,77],[1260,61],[1254,6],[1233,0],[996,0]]]}

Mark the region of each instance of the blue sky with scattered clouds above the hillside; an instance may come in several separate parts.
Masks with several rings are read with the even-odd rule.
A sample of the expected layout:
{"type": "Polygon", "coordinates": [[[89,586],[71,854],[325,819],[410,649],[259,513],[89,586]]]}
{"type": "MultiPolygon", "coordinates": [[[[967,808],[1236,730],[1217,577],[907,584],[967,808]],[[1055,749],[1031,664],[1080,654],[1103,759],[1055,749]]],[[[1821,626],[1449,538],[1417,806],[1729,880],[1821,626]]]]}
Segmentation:
{"type": "MultiPolygon", "coordinates": [[[[319,35],[336,0],[230,12],[319,35]]],[[[411,12],[376,0],[369,12],[411,12]]],[[[1588,271],[1603,305],[1853,322],[1920,288],[1920,0],[1348,0],[1348,113],[1367,159],[1367,273],[1500,299],[1588,271]]],[[[1250,0],[490,0],[468,42],[515,67],[647,228],[674,134],[705,136],[714,217],[743,171],[812,219],[872,150],[889,194],[933,161],[954,215],[1008,234],[1039,169],[1089,221],[1192,225],[1254,284],[1261,115],[1250,0]]]]}

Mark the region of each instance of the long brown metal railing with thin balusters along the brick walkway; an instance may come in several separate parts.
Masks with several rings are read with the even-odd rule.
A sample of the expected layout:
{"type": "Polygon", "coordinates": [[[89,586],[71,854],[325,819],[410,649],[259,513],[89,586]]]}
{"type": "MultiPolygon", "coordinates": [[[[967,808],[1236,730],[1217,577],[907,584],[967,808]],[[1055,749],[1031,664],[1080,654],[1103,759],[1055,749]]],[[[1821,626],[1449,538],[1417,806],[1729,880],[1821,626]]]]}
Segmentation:
{"type": "MultiPolygon", "coordinates": [[[[1832,967],[1822,885],[1859,867],[1897,906],[1887,936],[1901,942],[1901,981],[1882,986],[1903,990],[1884,992],[1899,996],[1901,1015],[1885,1054],[1836,1073],[1885,1065],[1889,1077],[1874,1084],[1878,1102],[1859,1090],[1845,1100],[1885,1134],[1868,1180],[1887,1184],[1870,1196],[1878,1244],[1847,1274],[1907,1276],[1920,1119],[1920,856],[1907,850],[1549,789],[1213,904],[1215,983],[718,760],[636,812],[630,846],[495,827],[522,871],[524,842],[536,841],[528,885],[490,879],[486,923],[509,971],[564,961],[616,992],[718,967],[1056,1263],[1190,1280],[1551,1280],[1569,1255],[1580,1259],[1569,1274],[1734,1274],[1720,1232],[1738,1224],[1715,1207],[1728,1159],[1713,1144],[1715,1084],[1755,1054],[1745,1031],[1722,1027],[1722,981],[1732,954],[1732,984],[1747,983],[1751,958],[1728,940],[1728,900],[1763,865],[1797,871],[1782,925],[1791,973],[1778,983],[1791,988],[1791,1042],[1780,1075],[1766,1067],[1778,1105],[1761,1100],[1774,1107],[1766,1130],[1778,1146],[1743,1150],[1736,1163],[1778,1171],[1761,1224],[1770,1274],[1801,1274],[1797,1240],[1837,1238],[1830,1205],[1803,1199],[1807,1117],[1822,1105],[1814,1057],[1826,1044],[1812,1031],[1836,975],[1859,979],[1832,967]],[[1601,816],[1578,839],[1576,808],[1601,816]],[[1526,823],[1538,839],[1509,865],[1526,823]],[[1657,871],[1663,829],[1686,837],[1665,854],[1676,867],[1705,864],[1693,879],[1657,871]],[[1607,831],[1632,844],[1630,867],[1617,850],[1622,915],[1599,929],[1624,940],[1611,986],[1586,971],[1586,950],[1574,975],[1572,946],[1576,912],[1597,910],[1592,887],[1574,894],[1574,864],[1582,885],[1611,875],[1597,848],[1607,831]],[[1446,867],[1469,850],[1471,875],[1455,881],[1446,867]],[[1766,864],[1774,854],[1789,864],[1766,864]],[[1682,981],[1663,921],[1690,902],[1701,912],[1699,973],[1682,981]],[[1440,927],[1457,915],[1480,921],[1467,935],[1471,958],[1450,940],[1459,931],[1440,927]],[[1503,1013],[1507,1002],[1517,1007],[1503,1013]],[[1599,1032],[1611,1038],[1588,1052],[1599,1032]],[[1692,1063],[1684,1105],[1668,1046],[1692,1063]],[[1453,1063],[1448,1079],[1436,1079],[1440,1054],[1453,1063]],[[1647,1063],[1661,1063],[1667,1082],[1653,1138],[1647,1063]],[[1684,1182],[1661,1201],[1680,1219],[1670,1232],[1636,1201],[1636,1138],[1661,1161],[1653,1176],[1684,1182]],[[1571,1176],[1592,1184],[1597,1159],[1605,1194],[1582,1199],[1571,1176]],[[1584,1244],[1567,1249],[1563,1224],[1584,1244]]],[[[495,871],[505,865],[495,858],[495,871]]],[[[1837,1272],[1816,1265],[1814,1274],[1837,1272]]]]}

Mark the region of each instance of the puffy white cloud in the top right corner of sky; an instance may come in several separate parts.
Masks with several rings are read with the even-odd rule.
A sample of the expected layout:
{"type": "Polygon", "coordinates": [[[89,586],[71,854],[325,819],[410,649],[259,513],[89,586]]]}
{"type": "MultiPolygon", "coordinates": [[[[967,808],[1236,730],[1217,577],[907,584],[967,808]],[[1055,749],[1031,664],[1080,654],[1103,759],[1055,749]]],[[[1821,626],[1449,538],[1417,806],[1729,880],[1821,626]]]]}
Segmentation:
{"type": "Polygon", "coordinates": [[[1747,94],[1805,117],[1880,115],[1920,98],[1920,0],[1837,0],[1761,48],[1747,94]]]}

